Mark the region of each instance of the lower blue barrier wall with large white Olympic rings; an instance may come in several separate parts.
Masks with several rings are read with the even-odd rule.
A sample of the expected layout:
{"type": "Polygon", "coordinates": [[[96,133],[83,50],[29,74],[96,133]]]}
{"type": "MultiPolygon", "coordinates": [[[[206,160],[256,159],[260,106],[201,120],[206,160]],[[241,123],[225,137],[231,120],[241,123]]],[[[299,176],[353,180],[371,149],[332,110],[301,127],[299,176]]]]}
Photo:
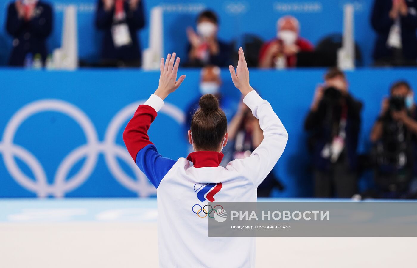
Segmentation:
{"type": "MultiPolygon", "coordinates": [[[[150,129],[151,140],[158,150],[172,159],[187,156],[188,144],[185,139],[186,129],[181,125],[181,111],[185,111],[189,102],[198,97],[199,70],[182,70],[180,74],[186,74],[185,82],[166,99],[167,109],[171,109],[168,114],[171,116],[160,112],[150,129]]],[[[221,74],[225,94],[239,99],[238,91],[231,83],[229,71],[223,69],[221,74]]],[[[288,145],[275,168],[276,174],[286,185],[286,191],[275,193],[276,196],[311,195],[309,155],[302,126],[314,88],[322,82],[323,74],[323,69],[282,72],[251,70],[251,84],[271,103],[289,133],[288,145]]],[[[121,134],[136,109],[136,104],[132,103],[147,99],[156,89],[158,77],[158,72],[133,69],[86,69],[76,72],[0,69],[0,197],[31,197],[45,193],[48,196],[70,197],[152,195],[154,191],[151,184],[142,175],[134,173],[138,169],[132,171],[128,166],[133,161],[130,156],[126,158],[127,150],[121,134]],[[93,136],[96,132],[96,144],[86,142],[80,125],[71,117],[55,110],[36,112],[36,109],[41,108],[40,105],[45,107],[45,103],[58,103],[58,107],[52,107],[55,110],[66,109],[68,106],[71,111],[75,110],[74,116],[86,122],[86,128],[90,127],[93,136]],[[122,114],[122,122],[116,128],[116,143],[104,142],[106,134],[111,133],[108,131],[110,122],[115,122],[115,115],[129,104],[132,106],[124,117],[122,114]],[[22,110],[24,106],[26,108],[22,110]],[[35,110],[30,110],[31,107],[35,107],[35,110]],[[30,116],[22,122],[16,121],[13,142],[7,143],[6,126],[10,134],[14,120],[24,117],[21,113],[16,115],[18,110],[28,112],[30,116]],[[83,151],[80,146],[85,144],[91,147],[84,148],[86,151],[83,151]],[[13,173],[16,169],[11,162],[7,164],[9,169],[6,169],[7,151],[13,151],[11,157],[17,159],[16,165],[22,170],[23,176],[28,178],[19,180],[18,175],[12,177],[9,171],[13,173]],[[78,153],[80,154],[77,157],[78,153]],[[90,158],[86,158],[85,154],[90,154],[90,158]],[[118,160],[106,162],[106,155],[116,155],[118,160]],[[74,156],[73,161],[68,159],[69,156],[74,156]],[[95,156],[98,156],[96,163],[95,156]],[[35,169],[28,167],[31,161],[35,169]],[[87,175],[80,173],[80,168],[88,161],[93,162],[91,169],[85,171],[87,175]],[[60,177],[57,169],[64,162],[69,163],[69,170],[60,177]],[[113,166],[112,169],[112,164],[116,168],[113,166]],[[117,170],[119,166],[121,170],[117,170]],[[43,170],[45,174],[40,172],[34,175],[36,169],[43,170]],[[80,174],[80,180],[74,179],[73,176],[80,174]],[[42,181],[43,177],[47,182],[42,181]],[[59,177],[62,181],[57,179],[59,177]],[[43,193],[42,189],[47,190],[43,193]],[[60,193],[56,189],[64,190],[60,193]]],[[[412,69],[358,69],[347,72],[347,78],[352,94],[364,102],[359,151],[366,151],[369,147],[369,131],[379,112],[382,97],[388,94],[389,85],[394,80],[408,78],[416,88],[417,77],[412,69]]]]}

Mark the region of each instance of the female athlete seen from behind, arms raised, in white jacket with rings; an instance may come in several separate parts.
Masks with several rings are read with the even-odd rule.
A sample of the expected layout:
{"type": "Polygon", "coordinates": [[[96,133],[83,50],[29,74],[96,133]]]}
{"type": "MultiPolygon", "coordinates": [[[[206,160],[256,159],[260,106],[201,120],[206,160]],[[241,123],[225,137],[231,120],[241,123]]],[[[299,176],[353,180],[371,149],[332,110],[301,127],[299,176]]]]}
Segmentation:
{"type": "MultiPolygon", "coordinates": [[[[244,52],[239,49],[234,85],[243,94],[264,132],[251,156],[219,166],[227,143],[227,120],[219,102],[206,94],[193,115],[188,139],[194,152],[172,160],[161,156],[149,141],[148,129],[163,99],[185,79],[177,78],[180,59],[175,53],[161,59],[161,77],[155,93],[140,105],[123,132],[123,140],[138,167],[156,187],[158,196],[158,247],[160,267],[254,267],[254,237],[208,237],[208,202],[256,202],[256,187],[265,179],[284,151],[288,134],[269,102],[249,84],[244,52]]],[[[163,133],[161,133],[163,135],[163,133]]]]}

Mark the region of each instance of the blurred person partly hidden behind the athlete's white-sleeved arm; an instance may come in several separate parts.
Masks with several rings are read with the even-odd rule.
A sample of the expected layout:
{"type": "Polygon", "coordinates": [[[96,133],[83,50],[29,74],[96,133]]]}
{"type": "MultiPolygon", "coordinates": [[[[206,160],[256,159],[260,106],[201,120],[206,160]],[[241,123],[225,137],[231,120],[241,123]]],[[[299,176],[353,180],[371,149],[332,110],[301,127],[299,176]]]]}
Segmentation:
{"type": "MultiPolygon", "coordinates": [[[[252,151],[261,144],[264,134],[259,126],[259,120],[254,117],[249,107],[243,102],[239,104],[239,110],[229,123],[227,128],[229,133],[229,144],[232,144],[231,158],[227,162],[234,159],[244,159],[252,154],[252,151]]],[[[226,151],[226,149],[225,149],[226,151]]],[[[258,186],[258,197],[268,197],[271,195],[272,189],[277,188],[280,191],[284,189],[281,183],[271,171],[268,176],[258,186]]]]}

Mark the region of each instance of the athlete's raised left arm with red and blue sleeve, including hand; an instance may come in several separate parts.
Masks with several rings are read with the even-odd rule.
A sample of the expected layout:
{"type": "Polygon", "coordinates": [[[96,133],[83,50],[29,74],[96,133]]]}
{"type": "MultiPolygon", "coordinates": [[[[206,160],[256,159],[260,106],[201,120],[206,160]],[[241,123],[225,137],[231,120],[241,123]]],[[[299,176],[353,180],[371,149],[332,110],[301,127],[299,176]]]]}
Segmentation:
{"type": "Polygon", "coordinates": [[[165,65],[164,59],[161,59],[161,77],[159,78],[158,89],[145,104],[139,105],[123,132],[123,141],[133,161],[156,188],[175,164],[175,161],[158,153],[156,146],[149,140],[148,129],[159,109],[164,106],[163,99],[174,92],[185,78],[185,75],[182,75],[176,81],[180,59],[176,60],[175,65],[174,60],[175,53],[172,57],[168,54],[165,65]]]}

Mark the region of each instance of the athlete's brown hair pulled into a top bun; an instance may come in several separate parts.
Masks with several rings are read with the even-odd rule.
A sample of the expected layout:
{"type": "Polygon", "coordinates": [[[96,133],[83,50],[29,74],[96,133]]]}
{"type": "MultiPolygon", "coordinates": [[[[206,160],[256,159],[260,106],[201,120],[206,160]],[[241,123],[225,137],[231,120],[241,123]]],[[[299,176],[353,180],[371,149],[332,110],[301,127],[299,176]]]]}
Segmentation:
{"type": "Polygon", "coordinates": [[[198,102],[200,108],[191,119],[191,136],[196,149],[217,151],[227,131],[226,114],[212,94],[205,94],[198,102]]]}

